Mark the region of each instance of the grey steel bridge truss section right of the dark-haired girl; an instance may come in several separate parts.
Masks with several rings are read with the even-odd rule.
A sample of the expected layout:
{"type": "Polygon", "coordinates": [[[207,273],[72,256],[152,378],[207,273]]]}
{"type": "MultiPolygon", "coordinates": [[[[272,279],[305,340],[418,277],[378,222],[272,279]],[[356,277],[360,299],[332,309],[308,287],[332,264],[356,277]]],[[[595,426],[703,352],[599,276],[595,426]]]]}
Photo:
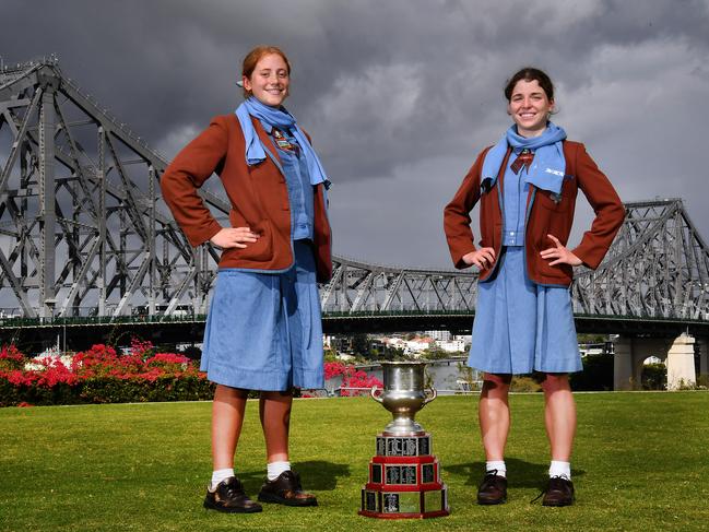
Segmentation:
{"type": "Polygon", "coordinates": [[[575,311],[709,320],[709,248],[682,200],[625,206],[625,223],[603,263],[574,283],[575,311]]]}

